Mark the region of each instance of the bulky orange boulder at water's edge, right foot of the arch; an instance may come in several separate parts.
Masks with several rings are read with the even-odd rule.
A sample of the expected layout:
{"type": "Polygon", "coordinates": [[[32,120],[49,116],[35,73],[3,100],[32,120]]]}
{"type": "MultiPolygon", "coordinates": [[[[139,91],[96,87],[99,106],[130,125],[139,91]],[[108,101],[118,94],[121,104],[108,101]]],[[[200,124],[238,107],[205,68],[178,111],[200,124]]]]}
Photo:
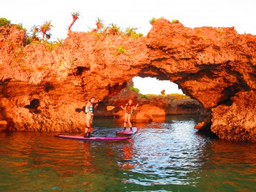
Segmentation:
{"type": "Polygon", "coordinates": [[[255,92],[238,92],[231,100],[212,109],[212,131],[222,139],[256,142],[255,92]]]}

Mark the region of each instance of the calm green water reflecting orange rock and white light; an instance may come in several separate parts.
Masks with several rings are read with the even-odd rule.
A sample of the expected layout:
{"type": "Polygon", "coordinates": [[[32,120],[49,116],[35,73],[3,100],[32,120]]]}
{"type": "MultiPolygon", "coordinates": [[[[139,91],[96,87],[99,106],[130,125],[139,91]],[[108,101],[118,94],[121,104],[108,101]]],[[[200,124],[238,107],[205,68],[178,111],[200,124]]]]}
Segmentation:
{"type": "MultiPolygon", "coordinates": [[[[201,134],[198,118],[136,124],[121,142],[0,133],[0,191],[256,191],[256,144],[201,134]]],[[[94,119],[93,134],[114,137],[121,126],[94,119]]]]}

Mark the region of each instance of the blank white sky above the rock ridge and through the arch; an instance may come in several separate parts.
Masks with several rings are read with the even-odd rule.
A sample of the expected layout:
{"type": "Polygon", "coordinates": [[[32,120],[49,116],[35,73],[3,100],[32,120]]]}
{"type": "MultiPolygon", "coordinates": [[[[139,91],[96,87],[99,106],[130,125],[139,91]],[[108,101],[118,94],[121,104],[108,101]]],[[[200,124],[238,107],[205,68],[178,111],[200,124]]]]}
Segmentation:
{"type": "MultiPolygon", "coordinates": [[[[138,28],[146,36],[151,28],[149,20],[164,17],[169,21],[177,19],[189,28],[234,26],[238,33],[256,35],[255,0],[8,0],[1,2],[0,18],[7,18],[11,23],[22,23],[28,30],[33,25],[51,21],[53,28],[50,33],[54,41],[66,38],[74,11],[80,13],[80,18],[72,31],[90,31],[100,18],[106,26],[114,23],[122,29],[138,28]]],[[[166,84],[156,81],[157,87],[166,84]]],[[[142,88],[138,88],[142,92],[142,88]]],[[[170,89],[165,89],[166,93],[173,92],[174,85],[171,84],[170,89]]]]}

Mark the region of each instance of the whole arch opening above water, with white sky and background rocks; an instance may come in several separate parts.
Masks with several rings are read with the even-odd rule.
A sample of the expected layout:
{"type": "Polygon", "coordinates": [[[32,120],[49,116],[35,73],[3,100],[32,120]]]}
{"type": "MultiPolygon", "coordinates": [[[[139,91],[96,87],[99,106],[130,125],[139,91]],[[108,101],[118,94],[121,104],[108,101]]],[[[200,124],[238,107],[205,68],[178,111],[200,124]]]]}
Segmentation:
{"type": "MultiPolygon", "coordinates": [[[[117,89],[114,90],[117,91],[117,89]]],[[[102,101],[104,105],[100,105],[97,110],[100,117],[122,119],[124,112],[121,106],[126,105],[129,99],[133,100],[134,105],[139,104],[138,110],[135,110],[132,115],[134,122],[163,121],[170,115],[203,116],[206,114],[200,102],[183,94],[178,85],[169,80],[138,75],[125,82],[122,89],[115,93],[112,97],[107,97],[102,101]],[[101,106],[110,107],[106,110],[106,107],[101,106]]]]}

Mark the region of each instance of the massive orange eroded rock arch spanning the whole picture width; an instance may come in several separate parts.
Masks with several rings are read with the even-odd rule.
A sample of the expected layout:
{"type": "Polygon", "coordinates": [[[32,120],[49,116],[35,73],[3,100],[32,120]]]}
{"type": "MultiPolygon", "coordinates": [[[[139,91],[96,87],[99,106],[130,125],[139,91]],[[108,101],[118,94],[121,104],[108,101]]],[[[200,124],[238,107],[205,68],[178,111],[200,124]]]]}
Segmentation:
{"type": "Polygon", "coordinates": [[[176,82],[212,110],[211,130],[220,138],[255,142],[255,119],[247,117],[255,107],[245,105],[256,104],[255,36],[162,18],[143,38],[70,32],[51,51],[43,44],[21,46],[25,34],[0,32],[0,107],[8,129],[79,130],[90,97],[113,97],[139,75],[176,82]]]}

